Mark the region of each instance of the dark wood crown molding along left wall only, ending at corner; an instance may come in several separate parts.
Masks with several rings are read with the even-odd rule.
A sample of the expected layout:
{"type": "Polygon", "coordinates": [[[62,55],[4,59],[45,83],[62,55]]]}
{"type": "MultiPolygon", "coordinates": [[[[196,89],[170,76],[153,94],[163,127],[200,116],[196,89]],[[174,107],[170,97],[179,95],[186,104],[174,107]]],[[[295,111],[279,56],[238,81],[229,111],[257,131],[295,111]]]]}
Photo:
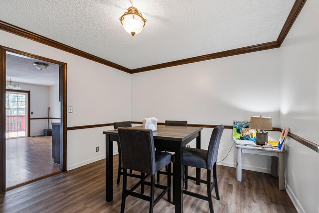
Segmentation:
{"type": "Polygon", "coordinates": [[[113,67],[115,69],[118,69],[118,70],[121,70],[121,71],[124,71],[127,73],[131,73],[131,70],[126,68],[126,67],[115,64],[115,63],[110,62],[108,60],[105,60],[103,58],[99,58],[99,57],[94,56],[92,54],[86,53],[82,50],[75,49],[75,48],[70,47],[68,45],[62,44],[62,43],[54,41],[50,38],[44,37],[42,35],[39,35],[39,34],[36,34],[33,32],[30,32],[28,30],[22,29],[20,27],[14,26],[12,24],[6,23],[6,22],[1,21],[1,20],[0,20],[0,29],[3,31],[6,31],[6,32],[10,32],[12,34],[33,40],[33,41],[36,41],[36,42],[39,42],[41,44],[45,44],[45,45],[63,50],[65,52],[72,53],[72,54],[77,55],[77,56],[81,56],[83,58],[98,62],[100,64],[104,64],[106,66],[113,67]]]}

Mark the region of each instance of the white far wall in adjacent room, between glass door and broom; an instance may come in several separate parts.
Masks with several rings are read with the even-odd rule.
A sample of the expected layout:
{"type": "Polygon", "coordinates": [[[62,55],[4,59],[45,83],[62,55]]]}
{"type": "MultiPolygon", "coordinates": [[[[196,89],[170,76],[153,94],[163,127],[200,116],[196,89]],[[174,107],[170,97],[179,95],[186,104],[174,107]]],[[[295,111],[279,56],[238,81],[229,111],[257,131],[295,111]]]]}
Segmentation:
{"type": "MultiPolygon", "coordinates": [[[[30,118],[47,117],[49,106],[49,87],[33,84],[19,83],[21,90],[30,91],[30,118]]],[[[17,90],[18,91],[18,90],[17,90]]],[[[30,136],[43,135],[43,129],[47,128],[47,120],[30,120],[30,136]]]]}

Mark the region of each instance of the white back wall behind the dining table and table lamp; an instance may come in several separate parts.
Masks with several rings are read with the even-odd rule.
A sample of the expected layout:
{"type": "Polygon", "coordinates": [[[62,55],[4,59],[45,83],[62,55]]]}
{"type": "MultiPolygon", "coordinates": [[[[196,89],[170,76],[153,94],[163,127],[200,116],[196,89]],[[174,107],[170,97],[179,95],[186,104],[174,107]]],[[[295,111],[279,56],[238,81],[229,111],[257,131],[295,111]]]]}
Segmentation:
{"type": "MultiPolygon", "coordinates": [[[[273,117],[279,126],[278,49],[186,64],[132,75],[132,120],[157,117],[187,120],[197,124],[232,125],[233,119],[251,115],[273,117]]],[[[212,129],[202,131],[202,148],[207,149],[212,129]]],[[[269,132],[278,140],[278,132],[269,132]]],[[[225,129],[218,160],[234,141],[225,129]]],[[[192,146],[195,143],[192,142],[192,146]]],[[[222,165],[236,165],[233,147],[222,165]]],[[[270,173],[271,158],[243,155],[243,168],[270,173]]]]}

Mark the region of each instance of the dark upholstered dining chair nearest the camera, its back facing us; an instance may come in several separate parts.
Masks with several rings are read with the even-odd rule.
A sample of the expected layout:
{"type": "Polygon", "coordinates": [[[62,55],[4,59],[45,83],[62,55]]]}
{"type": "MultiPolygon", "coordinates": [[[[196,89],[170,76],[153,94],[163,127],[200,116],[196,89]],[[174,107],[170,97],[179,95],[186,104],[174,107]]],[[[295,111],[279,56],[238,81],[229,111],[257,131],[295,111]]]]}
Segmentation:
{"type": "Polygon", "coordinates": [[[128,196],[143,199],[150,202],[150,213],[153,213],[154,206],[167,192],[167,200],[170,202],[170,169],[171,154],[168,152],[155,151],[153,132],[150,129],[118,128],[123,163],[123,189],[121,213],[125,210],[125,200],[128,196]],[[136,150],[136,151],[132,151],[136,150]],[[168,166],[167,186],[155,184],[155,174],[164,166],[168,166]],[[127,190],[127,169],[139,171],[151,175],[151,182],[142,178],[132,189],[127,190]],[[151,186],[150,196],[143,195],[144,192],[134,192],[139,185],[151,186]],[[154,199],[155,188],[163,191],[158,198],[154,199]]]}

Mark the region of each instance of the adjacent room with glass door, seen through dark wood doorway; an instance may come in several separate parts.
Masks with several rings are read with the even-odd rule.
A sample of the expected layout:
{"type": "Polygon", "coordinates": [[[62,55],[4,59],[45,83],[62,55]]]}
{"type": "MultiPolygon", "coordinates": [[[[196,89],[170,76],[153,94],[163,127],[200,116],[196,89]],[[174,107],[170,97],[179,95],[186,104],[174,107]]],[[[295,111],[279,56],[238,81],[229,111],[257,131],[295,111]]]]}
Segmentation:
{"type": "Polygon", "coordinates": [[[6,54],[7,189],[60,172],[52,149],[52,123],[60,122],[59,66],[46,63],[6,54]]]}

